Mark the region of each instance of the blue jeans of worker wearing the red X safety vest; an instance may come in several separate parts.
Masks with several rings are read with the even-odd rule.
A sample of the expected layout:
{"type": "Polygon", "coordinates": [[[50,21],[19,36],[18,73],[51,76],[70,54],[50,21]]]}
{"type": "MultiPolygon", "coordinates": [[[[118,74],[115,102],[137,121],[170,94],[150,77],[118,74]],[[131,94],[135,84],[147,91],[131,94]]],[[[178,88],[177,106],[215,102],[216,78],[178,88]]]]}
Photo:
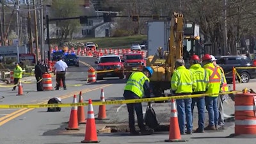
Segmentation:
{"type": "Polygon", "coordinates": [[[218,97],[205,97],[205,105],[209,115],[209,126],[218,125],[218,97]]]}

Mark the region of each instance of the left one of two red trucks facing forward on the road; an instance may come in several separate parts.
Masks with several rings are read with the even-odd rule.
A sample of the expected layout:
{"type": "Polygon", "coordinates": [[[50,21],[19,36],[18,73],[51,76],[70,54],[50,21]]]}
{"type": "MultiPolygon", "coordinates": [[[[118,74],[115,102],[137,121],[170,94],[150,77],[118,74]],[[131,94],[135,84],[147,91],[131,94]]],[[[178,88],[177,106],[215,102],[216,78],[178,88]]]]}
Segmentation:
{"type": "Polygon", "coordinates": [[[97,71],[107,72],[99,72],[97,73],[97,80],[102,80],[104,77],[119,77],[120,79],[124,79],[124,60],[121,60],[118,55],[106,55],[100,56],[98,61],[95,61],[97,64],[97,71]],[[108,70],[113,70],[108,72],[108,70]]]}

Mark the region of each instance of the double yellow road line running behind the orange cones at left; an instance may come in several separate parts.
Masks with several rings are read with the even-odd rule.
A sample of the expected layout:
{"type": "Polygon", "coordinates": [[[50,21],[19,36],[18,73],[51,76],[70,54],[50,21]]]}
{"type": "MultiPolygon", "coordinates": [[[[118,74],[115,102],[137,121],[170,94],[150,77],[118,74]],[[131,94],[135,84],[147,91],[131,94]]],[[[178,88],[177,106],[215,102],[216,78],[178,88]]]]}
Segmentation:
{"type": "MultiPolygon", "coordinates": [[[[104,84],[102,86],[95,86],[94,88],[90,88],[90,89],[86,88],[85,90],[82,90],[81,92],[82,93],[92,92],[93,90],[99,90],[100,88],[104,88],[104,87],[111,86],[111,85],[112,84],[104,84]]],[[[66,95],[60,96],[60,98],[61,99],[67,99],[68,97],[73,97],[76,93],[79,93],[79,92],[71,92],[71,93],[68,93],[66,95]]],[[[38,104],[46,104],[47,102],[48,102],[48,100],[45,100],[44,102],[40,102],[38,104]]],[[[34,108],[31,108],[31,109],[27,109],[27,108],[19,109],[18,111],[14,111],[13,113],[10,113],[10,114],[8,114],[6,116],[1,117],[0,118],[0,126],[6,124],[6,122],[9,122],[10,120],[13,120],[14,118],[17,118],[18,116],[23,115],[24,113],[27,113],[27,112],[29,112],[29,111],[31,111],[33,109],[34,108]]]]}

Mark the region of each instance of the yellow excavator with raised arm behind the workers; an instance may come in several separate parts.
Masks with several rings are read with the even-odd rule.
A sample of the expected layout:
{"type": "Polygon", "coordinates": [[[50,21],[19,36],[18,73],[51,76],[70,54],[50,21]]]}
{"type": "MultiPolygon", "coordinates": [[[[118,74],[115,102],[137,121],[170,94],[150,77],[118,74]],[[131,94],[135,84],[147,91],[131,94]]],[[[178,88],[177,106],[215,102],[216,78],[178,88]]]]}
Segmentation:
{"type": "Polygon", "coordinates": [[[147,58],[147,66],[154,70],[154,74],[150,77],[150,86],[155,97],[163,96],[164,90],[170,89],[175,60],[182,58],[183,55],[184,39],[199,40],[199,26],[194,22],[186,22],[180,13],[173,13],[168,51],[158,47],[156,55],[147,58]]]}

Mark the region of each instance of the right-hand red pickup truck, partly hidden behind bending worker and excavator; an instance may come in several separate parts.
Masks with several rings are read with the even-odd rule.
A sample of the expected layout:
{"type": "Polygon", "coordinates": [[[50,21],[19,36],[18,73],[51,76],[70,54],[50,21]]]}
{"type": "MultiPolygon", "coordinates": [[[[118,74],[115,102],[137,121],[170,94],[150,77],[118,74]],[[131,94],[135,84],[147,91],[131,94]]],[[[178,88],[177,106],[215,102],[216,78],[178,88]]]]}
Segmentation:
{"type": "Polygon", "coordinates": [[[143,70],[146,65],[146,61],[143,58],[143,55],[139,53],[124,54],[123,60],[126,79],[131,76],[132,72],[143,70]]]}

